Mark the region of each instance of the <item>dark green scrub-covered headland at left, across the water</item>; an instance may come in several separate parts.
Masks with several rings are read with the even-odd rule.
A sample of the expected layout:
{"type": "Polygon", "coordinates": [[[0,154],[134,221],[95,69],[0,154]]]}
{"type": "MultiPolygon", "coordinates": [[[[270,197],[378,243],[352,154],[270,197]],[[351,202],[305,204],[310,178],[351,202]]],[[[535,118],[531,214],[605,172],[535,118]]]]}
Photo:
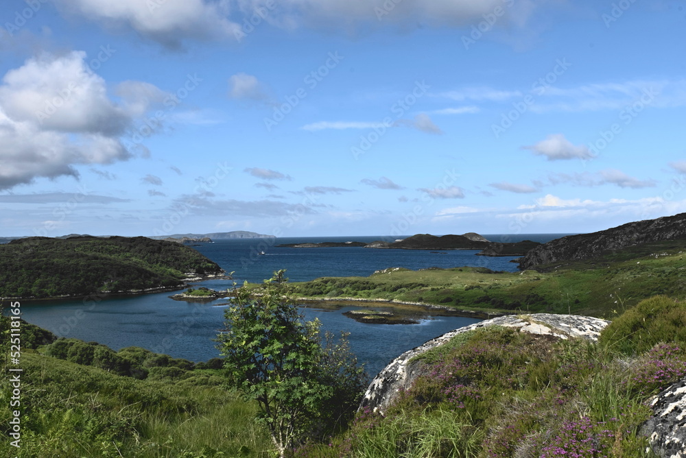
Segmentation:
{"type": "Polygon", "coordinates": [[[29,237],[0,245],[2,298],[138,294],[222,274],[193,248],[146,237],[29,237]]]}

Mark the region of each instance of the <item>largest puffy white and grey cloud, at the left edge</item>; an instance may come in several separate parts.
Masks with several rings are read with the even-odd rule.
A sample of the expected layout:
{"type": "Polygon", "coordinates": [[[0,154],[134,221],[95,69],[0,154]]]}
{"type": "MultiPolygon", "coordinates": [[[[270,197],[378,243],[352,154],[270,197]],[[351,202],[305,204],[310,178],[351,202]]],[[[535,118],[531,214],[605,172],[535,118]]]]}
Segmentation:
{"type": "MultiPolygon", "coordinates": [[[[43,53],[5,73],[0,84],[0,189],[73,176],[78,165],[132,156],[121,136],[154,103],[154,86],[119,86],[121,104],[86,65],[86,53],[43,53]]],[[[141,148],[145,152],[145,148],[141,148]]]]}

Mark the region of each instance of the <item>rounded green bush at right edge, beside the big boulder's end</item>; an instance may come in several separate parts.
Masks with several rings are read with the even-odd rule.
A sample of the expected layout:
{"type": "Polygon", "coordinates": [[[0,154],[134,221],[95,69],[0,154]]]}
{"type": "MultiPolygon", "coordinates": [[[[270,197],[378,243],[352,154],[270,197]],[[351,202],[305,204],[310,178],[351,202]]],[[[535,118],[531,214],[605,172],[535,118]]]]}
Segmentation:
{"type": "Polygon", "coordinates": [[[686,303],[666,296],[628,309],[600,334],[598,342],[623,354],[639,354],[657,343],[686,343],[686,303]]]}

